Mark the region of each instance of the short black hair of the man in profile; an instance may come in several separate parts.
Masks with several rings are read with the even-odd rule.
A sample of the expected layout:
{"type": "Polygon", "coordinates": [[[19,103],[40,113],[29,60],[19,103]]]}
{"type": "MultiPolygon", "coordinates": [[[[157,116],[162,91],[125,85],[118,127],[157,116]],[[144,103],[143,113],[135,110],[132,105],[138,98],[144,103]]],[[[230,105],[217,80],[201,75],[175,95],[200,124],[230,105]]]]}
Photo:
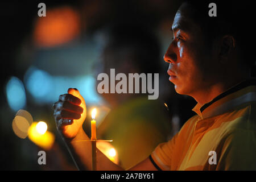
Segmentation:
{"type": "Polygon", "coordinates": [[[209,43],[218,36],[232,35],[240,47],[247,65],[255,65],[255,32],[253,4],[250,1],[187,0],[192,7],[192,19],[201,27],[209,43]],[[217,16],[209,16],[210,3],[217,6],[217,16]]]}

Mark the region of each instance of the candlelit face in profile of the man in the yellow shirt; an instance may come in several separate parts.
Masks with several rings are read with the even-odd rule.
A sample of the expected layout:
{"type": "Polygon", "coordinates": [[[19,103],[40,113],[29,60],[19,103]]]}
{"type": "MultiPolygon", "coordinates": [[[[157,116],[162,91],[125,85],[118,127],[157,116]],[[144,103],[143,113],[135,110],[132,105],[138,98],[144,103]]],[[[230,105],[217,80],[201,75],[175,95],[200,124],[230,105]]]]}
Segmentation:
{"type": "Polygon", "coordinates": [[[164,60],[170,63],[169,80],[176,92],[189,96],[213,84],[218,67],[216,51],[207,44],[204,32],[191,18],[192,13],[193,7],[181,5],[172,23],[174,40],[164,55],[164,60]]]}

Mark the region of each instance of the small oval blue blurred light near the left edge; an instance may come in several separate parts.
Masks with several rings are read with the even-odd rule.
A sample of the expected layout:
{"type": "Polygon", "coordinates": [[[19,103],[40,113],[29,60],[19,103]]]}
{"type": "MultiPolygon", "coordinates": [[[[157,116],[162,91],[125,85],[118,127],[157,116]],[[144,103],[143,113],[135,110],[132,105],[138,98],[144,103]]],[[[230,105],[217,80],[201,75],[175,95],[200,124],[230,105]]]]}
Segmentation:
{"type": "Polygon", "coordinates": [[[18,111],[26,105],[26,93],[22,81],[11,77],[6,85],[7,102],[12,110],[18,111]]]}

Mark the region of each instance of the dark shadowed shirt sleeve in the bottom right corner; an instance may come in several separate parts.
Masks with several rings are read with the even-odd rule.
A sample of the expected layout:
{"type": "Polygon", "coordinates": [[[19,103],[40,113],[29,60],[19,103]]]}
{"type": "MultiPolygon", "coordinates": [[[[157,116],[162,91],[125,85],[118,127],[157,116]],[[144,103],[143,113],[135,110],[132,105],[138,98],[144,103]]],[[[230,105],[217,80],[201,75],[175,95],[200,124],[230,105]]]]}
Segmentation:
{"type": "Polygon", "coordinates": [[[256,170],[256,131],[233,131],[220,151],[217,170],[256,170]]]}

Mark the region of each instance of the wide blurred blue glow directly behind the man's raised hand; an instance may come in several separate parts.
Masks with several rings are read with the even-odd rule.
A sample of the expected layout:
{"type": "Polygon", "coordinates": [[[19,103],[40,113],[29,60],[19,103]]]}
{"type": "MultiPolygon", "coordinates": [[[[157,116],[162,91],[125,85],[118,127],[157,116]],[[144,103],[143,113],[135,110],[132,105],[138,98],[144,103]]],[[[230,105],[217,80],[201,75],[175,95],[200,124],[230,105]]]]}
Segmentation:
{"type": "Polygon", "coordinates": [[[26,88],[38,104],[52,104],[59,99],[60,94],[67,93],[68,88],[79,89],[80,94],[88,104],[101,104],[102,99],[97,94],[96,80],[86,76],[51,76],[46,71],[31,67],[24,78],[26,88]]]}

